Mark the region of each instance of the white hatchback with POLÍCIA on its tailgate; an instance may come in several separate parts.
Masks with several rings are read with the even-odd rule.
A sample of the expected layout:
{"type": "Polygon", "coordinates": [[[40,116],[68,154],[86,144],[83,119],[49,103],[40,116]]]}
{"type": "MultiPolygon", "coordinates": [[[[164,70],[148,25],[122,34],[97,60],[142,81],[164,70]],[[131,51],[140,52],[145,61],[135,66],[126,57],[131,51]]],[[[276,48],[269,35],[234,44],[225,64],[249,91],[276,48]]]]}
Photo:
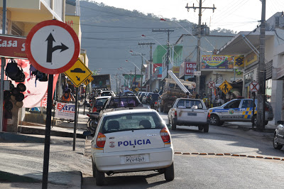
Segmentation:
{"type": "Polygon", "coordinates": [[[175,178],[173,145],[165,121],[153,109],[128,109],[102,115],[92,139],[92,168],[97,185],[105,173],[158,171],[175,178]]]}

